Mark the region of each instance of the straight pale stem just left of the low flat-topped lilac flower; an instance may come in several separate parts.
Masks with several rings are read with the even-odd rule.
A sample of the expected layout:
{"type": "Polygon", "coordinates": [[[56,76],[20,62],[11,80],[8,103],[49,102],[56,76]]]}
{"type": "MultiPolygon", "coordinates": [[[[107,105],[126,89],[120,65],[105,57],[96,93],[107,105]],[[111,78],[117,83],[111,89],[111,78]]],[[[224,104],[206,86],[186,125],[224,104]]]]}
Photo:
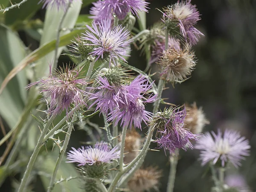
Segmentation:
{"type": "MultiPolygon", "coordinates": [[[[76,120],[76,116],[73,116],[72,122],[73,122],[74,120],[76,120]]],[[[65,137],[63,146],[62,146],[62,148],[60,149],[60,153],[59,153],[59,156],[58,156],[58,160],[57,160],[57,162],[56,162],[54,171],[53,171],[53,173],[52,173],[52,177],[51,177],[50,184],[49,184],[49,188],[48,188],[47,192],[51,192],[52,189],[53,189],[53,187],[54,187],[55,177],[56,177],[56,175],[57,175],[57,172],[58,172],[59,167],[61,166],[62,158],[64,157],[64,154],[65,154],[65,152],[66,152],[66,150],[67,150],[67,145],[68,145],[68,143],[69,143],[70,135],[71,135],[71,133],[72,133],[72,130],[73,130],[73,125],[70,125],[69,128],[67,129],[67,133],[66,133],[66,137],[65,137]]]]}

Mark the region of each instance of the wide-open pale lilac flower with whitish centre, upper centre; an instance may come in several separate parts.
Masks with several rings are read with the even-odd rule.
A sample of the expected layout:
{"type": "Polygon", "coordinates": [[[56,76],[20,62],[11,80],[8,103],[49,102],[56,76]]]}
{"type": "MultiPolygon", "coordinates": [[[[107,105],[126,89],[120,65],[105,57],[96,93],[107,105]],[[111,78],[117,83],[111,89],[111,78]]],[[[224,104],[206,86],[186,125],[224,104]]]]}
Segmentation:
{"type": "Polygon", "coordinates": [[[111,61],[116,64],[116,60],[122,58],[123,56],[129,56],[127,52],[130,50],[130,43],[132,39],[128,39],[129,32],[125,30],[121,25],[116,26],[111,30],[111,19],[101,20],[99,24],[99,29],[95,23],[92,22],[92,28],[87,25],[89,30],[85,31],[82,40],[89,41],[87,45],[95,46],[93,52],[90,54],[96,57],[96,60],[109,59],[109,64],[111,61]]]}

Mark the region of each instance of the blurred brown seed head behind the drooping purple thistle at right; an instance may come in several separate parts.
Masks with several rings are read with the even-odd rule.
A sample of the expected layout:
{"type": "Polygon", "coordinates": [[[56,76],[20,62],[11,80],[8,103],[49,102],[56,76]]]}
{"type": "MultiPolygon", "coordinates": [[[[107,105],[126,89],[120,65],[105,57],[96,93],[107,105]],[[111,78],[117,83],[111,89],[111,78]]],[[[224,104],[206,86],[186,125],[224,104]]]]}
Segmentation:
{"type": "Polygon", "coordinates": [[[195,102],[192,105],[186,105],[185,128],[193,134],[200,134],[206,124],[209,124],[209,121],[202,108],[198,109],[195,102]]]}

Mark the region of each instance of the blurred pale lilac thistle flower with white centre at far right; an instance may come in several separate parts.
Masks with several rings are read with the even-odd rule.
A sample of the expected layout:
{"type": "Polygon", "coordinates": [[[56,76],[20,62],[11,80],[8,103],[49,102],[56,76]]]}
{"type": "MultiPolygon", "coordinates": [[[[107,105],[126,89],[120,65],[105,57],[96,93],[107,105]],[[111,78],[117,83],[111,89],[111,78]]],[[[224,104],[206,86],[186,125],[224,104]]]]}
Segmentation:
{"type": "Polygon", "coordinates": [[[238,168],[241,166],[240,161],[244,159],[243,156],[250,155],[249,141],[245,137],[241,137],[239,132],[225,130],[223,137],[220,129],[218,129],[217,135],[213,131],[211,133],[212,135],[207,132],[195,145],[195,148],[201,150],[202,166],[209,161],[215,164],[220,160],[223,167],[230,161],[238,168]]]}

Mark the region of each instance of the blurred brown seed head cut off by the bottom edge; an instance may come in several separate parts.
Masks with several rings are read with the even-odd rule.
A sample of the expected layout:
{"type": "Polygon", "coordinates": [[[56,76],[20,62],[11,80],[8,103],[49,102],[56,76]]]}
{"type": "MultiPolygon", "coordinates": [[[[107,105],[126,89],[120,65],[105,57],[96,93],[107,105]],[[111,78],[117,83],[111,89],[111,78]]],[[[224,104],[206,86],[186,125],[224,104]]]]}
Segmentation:
{"type": "Polygon", "coordinates": [[[144,192],[150,189],[158,191],[160,177],[162,177],[162,171],[155,167],[138,169],[129,180],[128,187],[132,192],[144,192]]]}

